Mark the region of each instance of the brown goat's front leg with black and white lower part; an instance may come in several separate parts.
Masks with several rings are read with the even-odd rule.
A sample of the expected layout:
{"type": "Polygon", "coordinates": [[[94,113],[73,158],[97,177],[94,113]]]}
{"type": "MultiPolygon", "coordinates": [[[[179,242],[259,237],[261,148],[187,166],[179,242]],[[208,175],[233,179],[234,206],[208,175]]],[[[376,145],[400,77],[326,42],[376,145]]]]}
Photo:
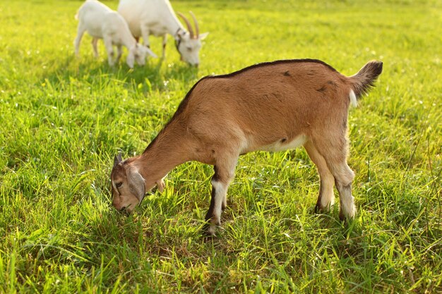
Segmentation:
{"type": "Polygon", "coordinates": [[[221,224],[221,212],[226,206],[227,189],[234,178],[235,166],[238,157],[230,157],[228,161],[220,161],[214,167],[215,174],[212,177],[212,197],[210,207],[205,215],[208,227],[205,228],[208,235],[215,235],[215,229],[221,224]]]}

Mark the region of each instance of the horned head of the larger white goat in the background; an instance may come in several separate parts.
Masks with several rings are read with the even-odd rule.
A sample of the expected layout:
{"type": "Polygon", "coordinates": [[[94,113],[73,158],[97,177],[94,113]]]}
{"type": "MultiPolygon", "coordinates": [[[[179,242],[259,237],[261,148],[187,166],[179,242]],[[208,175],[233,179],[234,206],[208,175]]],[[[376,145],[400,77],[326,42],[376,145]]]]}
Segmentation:
{"type": "Polygon", "coordinates": [[[195,32],[193,32],[189,20],[182,13],[178,12],[177,14],[184,20],[189,32],[182,29],[178,30],[177,34],[175,35],[175,45],[177,46],[177,50],[181,55],[182,61],[186,61],[192,66],[198,66],[200,63],[199,52],[201,49],[201,40],[205,39],[209,33],[204,32],[200,35],[196,17],[192,11],[189,11],[189,13],[191,14],[193,23],[195,24],[195,32]]]}

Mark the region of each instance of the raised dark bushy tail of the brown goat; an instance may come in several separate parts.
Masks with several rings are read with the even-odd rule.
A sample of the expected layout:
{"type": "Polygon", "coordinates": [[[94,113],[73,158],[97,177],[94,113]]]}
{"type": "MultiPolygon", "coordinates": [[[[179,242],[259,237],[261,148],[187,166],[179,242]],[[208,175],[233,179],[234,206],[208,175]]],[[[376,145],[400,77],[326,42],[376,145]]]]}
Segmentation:
{"type": "Polygon", "coordinates": [[[369,92],[376,78],[382,73],[382,61],[369,61],[356,75],[349,77],[356,98],[369,92]]]}

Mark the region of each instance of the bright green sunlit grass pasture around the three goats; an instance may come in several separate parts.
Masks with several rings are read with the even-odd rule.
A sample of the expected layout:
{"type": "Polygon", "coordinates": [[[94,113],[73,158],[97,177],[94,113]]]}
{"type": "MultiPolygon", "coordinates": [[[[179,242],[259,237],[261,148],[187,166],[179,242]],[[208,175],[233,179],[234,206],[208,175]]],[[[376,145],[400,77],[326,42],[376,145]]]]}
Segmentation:
{"type": "Polygon", "coordinates": [[[76,59],[80,4],[0,4],[0,293],[442,293],[440,1],[172,1],[210,32],[198,70],[171,38],[133,70],[90,37],[76,59]],[[313,213],[303,149],[241,157],[213,240],[210,166],[174,169],[132,216],[110,207],[114,154],[143,152],[199,78],[297,58],[384,62],[350,111],[354,221],[313,213]]]}

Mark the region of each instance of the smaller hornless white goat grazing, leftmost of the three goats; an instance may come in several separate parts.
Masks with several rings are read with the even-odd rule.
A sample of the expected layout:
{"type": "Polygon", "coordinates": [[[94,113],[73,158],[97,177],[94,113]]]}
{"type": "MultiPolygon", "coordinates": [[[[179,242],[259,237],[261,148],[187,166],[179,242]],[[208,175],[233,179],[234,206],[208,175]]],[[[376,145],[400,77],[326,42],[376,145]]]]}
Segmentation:
{"type": "Polygon", "coordinates": [[[76,18],[78,22],[78,32],[75,39],[75,50],[78,56],[80,49],[81,37],[85,31],[92,36],[92,48],[95,57],[98,56],[97,41],[103,39],[104,46],[107,50],[107,58],[109,66],[113,66],[115,62],[119,62],[121,57],[121,47],[124,46],[129,50],[126,63],[130,68],[133,68],[133,63],[136,62],[143,66],[145,64],[146,54],[156,57],[153,51],[139,45],[136,39],[131,35],[131,31],[126,23],[126,20],[111,8],[105,6],[97,0],[87,0],[78,9],[76,18]],[[114,47],[117,46],[118,54],[114,59],[114,47]]]}

